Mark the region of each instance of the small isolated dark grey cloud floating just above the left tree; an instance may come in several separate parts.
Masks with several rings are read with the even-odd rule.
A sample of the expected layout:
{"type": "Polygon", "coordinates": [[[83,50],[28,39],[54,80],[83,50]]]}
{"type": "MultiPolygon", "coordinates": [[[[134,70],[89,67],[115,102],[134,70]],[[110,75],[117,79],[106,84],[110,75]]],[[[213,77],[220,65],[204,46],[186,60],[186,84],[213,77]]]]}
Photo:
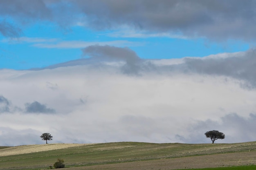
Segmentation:
{"type": "Polygon", "coordinates": [[[55,113],[55,110],[52,108],[47,108],[46,105],[40,104],[39,102],[35,101],[33,103],[27,103],[26,112],[27,113],[55,113]]]}

